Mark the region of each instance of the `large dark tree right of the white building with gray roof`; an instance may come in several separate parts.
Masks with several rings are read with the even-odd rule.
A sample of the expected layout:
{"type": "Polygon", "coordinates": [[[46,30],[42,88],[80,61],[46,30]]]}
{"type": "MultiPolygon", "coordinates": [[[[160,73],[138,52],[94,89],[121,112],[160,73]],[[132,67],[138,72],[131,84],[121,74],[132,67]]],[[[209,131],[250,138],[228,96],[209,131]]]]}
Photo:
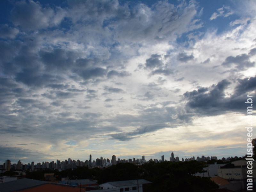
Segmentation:
{"type": "Polygon", "coordinates": [[[142,177],[152,182],[150,192],[203,192],[218,188],[210,178],[196,177],[196,172],[204,172],[205,163],[190,162],[162,162],[146,163],[142,166],[142,177]]]}

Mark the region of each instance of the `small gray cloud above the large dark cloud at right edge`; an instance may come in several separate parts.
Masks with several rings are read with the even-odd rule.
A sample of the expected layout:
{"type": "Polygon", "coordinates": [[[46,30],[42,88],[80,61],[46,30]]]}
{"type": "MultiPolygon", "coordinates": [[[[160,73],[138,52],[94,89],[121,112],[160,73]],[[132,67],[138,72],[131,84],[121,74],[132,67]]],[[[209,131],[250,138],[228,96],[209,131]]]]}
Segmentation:
{"type": "Polygon", "coordinates": [[[250,61],[249,55],[241,54],[237,55],[236,57],[227,57],[221,65],[224,67],[231,67],[231,64],[235,64],[237,69],[245,70],[247,68],[253,67],[255,65],[255,62],[250,61]]]}

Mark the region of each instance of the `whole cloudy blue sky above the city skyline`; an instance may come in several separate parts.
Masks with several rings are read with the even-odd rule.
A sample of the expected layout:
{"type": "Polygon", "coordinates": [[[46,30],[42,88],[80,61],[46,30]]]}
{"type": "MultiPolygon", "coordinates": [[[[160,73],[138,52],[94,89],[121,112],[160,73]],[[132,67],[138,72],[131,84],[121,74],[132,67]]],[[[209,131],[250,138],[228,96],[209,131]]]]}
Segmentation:
{"type": "Polygon", "coordinates": [[[0,7],[0,163],[247,153],[254,0],[0,7]]]}

